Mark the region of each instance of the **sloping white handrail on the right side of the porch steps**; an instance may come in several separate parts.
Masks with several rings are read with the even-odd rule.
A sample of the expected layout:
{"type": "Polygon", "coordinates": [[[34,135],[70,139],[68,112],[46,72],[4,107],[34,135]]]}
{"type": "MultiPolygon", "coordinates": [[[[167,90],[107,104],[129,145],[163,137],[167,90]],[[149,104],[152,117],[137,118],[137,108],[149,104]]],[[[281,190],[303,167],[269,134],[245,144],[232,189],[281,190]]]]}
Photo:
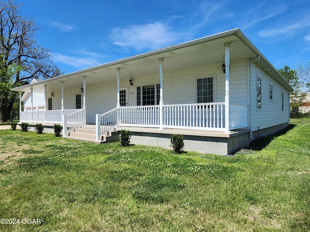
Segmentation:
{"type": "Polygon", "coordinates": [[[102,115],[96,115],[96,141],[100,141],[100,137],[118,126],[119,109],[114,108],[102,115]]]}

